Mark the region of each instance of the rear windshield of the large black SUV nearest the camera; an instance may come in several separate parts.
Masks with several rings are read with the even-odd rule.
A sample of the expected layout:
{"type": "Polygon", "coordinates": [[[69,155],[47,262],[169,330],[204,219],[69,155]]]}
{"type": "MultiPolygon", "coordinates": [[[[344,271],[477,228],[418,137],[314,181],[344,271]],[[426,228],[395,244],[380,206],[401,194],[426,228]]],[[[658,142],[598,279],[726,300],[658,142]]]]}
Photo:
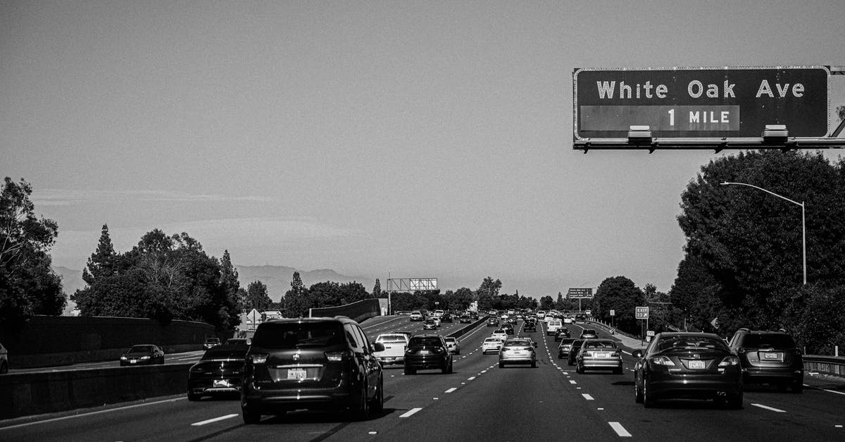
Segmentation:
{"type": "Polygon", "coordinates": [[[255,331],[253,345],[264,348],[302,348],[343,343],[340,323],[263,323],[255,331]]]}

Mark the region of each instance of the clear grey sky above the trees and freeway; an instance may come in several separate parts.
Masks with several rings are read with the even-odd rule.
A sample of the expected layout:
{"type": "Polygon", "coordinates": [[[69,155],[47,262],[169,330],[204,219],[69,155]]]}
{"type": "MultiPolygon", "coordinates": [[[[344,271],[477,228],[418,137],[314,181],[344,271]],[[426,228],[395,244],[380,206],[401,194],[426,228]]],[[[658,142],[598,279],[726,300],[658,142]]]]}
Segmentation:
{"type": "Polygon", "coordinates": [[[843,17],[842,1],[0,1],[0,172],[32,184],[68,268],[106,223],[118,251],[186,231],[236,264],[383,284],[666,291],[680,194],[717,155],[572,150],[573,69],[842,65],[843,17]]]}

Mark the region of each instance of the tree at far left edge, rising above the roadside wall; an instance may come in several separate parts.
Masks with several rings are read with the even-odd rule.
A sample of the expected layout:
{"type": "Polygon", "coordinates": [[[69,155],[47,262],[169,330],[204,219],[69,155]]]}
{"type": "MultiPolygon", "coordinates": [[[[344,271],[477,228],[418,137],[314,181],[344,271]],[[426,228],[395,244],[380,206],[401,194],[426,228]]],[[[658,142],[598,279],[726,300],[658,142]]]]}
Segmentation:
{"type": "Polygon", "coordinates": [[[0,191],[0,323],[8,329],[31,315],[59,315],[67,304],[48,254],[58,224],[35,218],[31,194],[25,180],[8,177],[0,191]]]}

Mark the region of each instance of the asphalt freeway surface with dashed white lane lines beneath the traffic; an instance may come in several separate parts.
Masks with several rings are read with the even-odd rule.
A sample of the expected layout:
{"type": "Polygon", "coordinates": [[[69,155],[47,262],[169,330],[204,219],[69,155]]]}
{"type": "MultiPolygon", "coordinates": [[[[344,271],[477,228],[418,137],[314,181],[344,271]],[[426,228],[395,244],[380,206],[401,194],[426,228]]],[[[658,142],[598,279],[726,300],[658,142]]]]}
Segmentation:
{"type": "MultiPolygon", "coordinates": [[[[363,323],[368,339],[381,333],[422,333],[422,323],[406,317],[373,318],[363,323]]],[[[545,325],[516,334],[538,342],[537,368],[499,368],[498,357],[483,355],[482,341],[493,328],[484,323],[461,336],[454,373],[424,370],[403,374],[384,369],[384,411],[363,421],[327,412],[290,412],[245,425],[237,398],[189,402],[186,395],[0,422],[3,440],[613,440],[845,439],[845,384],[808,376],[802,394],[766,386],[746,386],[744,407],[731,410],[712,401],[665,401],[657,408],[635,403],[634,359],[624,352],[623,374],[575,373],[557,357],[557,342],[545,325]]],[[[581,333],[581,324],[564,324],[581,333]]],[[[465,327],[444,323],[439,334],[465,327]]],[[[603,330],[599,337],[619,340],[603,330]]],[[[630,344],[630,343],[629,343],[630,344]]]]}

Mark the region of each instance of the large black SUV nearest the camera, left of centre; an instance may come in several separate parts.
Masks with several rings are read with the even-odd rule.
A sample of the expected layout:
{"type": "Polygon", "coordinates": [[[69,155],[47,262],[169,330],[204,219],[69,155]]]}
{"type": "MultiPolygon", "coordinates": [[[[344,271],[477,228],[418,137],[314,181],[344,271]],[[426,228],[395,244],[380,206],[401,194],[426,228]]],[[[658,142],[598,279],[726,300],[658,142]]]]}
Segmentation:
{"type": "Polygon", "coordinates": [[[301,408],[348,410],[357,419],[384,408],[384,375],[361,327],[349,318],[275,319],[259,324],[246,356],[244,423],[301,408]]]}

